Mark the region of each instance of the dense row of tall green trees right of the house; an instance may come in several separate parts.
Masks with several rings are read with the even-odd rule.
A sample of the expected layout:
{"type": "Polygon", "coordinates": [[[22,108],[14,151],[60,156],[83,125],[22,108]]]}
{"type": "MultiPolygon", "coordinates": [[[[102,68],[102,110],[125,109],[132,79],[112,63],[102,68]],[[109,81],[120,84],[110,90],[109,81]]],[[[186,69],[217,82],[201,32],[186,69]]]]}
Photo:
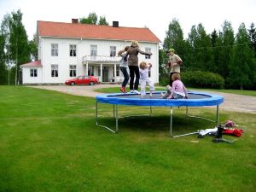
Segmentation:
{"type": "Polygon", "coordinates": [[[256,90],[256,32],[252,23],[247,29],[244,23],[235,32],[231,23],[224,21],[222,30],[207,34],[204,26],[192,26],[187,39],[177,19],[173,19],[166,31],[160,49],[160,81],[166,77],[166,49],[173,48],[183,59],[182,73],[218,73],[224,78],[226,89],[256,90]]]}

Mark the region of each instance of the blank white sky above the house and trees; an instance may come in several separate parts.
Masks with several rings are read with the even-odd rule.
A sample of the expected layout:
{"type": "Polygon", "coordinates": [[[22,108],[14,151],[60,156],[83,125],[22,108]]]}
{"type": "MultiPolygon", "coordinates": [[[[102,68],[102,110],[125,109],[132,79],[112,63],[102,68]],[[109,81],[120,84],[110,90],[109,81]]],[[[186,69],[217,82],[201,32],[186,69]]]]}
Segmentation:
{"type": "Polygon", "coordinates": [[[241,22],[247,29],[251,23],[256,25],[256,0],[0,0],[0,21],[18,9],[30,40],[37,20],[71,22],[93,12],[98,18],[105,16],[109,25],[118,20],[119,26],[147,26],[162,42],[173,18],[179,21],[184,38],[199,23],[208,34],[221,30],[224,20],[231,22],[235,34],[241,22]]]}

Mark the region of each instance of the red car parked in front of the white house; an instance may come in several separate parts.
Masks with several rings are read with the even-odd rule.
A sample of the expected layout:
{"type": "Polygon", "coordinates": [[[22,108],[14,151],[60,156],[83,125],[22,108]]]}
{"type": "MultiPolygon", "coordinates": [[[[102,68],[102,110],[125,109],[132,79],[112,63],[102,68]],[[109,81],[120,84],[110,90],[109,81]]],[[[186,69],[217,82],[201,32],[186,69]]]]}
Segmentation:
{"type": "Polygon", "coordinates": [[[98,78],[94,77],[94,76],[79,76],[77,78],[74,79],[68,79],[65,84],[67,85],[75,85],[75,84],[89,84],[89,85],[93,85],[93,84],[98,84],[99,80],[98,78]]]}

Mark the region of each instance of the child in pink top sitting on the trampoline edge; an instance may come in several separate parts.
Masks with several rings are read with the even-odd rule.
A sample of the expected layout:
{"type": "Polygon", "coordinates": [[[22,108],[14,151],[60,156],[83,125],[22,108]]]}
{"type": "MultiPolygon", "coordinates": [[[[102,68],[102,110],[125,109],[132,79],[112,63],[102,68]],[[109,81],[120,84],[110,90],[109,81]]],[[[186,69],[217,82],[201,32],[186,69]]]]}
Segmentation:
{"type": "Polygon", "coordinates": [[[179,73],[172,74],[172,87],[166,86],[166,93],[161,93],[163,99],[187,99],[188,91],[180,80],[179,73]]]}

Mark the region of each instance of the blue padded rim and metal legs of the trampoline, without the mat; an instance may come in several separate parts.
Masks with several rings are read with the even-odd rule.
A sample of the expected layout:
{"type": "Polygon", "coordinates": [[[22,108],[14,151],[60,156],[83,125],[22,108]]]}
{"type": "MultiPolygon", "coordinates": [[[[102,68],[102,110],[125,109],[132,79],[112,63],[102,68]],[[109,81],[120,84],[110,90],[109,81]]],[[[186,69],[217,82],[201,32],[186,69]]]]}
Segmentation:
{"type": "MultiPolygon", "coordinates": [[[[224,101],[223,96],[206,94],[206,93],[200,93],[200,92],[189,92],[189,94],[200,94],[200,95],[205,95],[205,96],[211,96],[211,98],[213,97],[216,100],[216,101],[214,101],[214,103],[216,103],[216,104],[212,104],[211,103],[211,104],[208,104],[208,105],[199,105],[199,106],[194,106],[194,105],[189,105],[189,104],[188,105],[183,105],[182,107],[186,107],[186,116],[188,116],[190,118],[204,119],[204,120],[207,120],[207,121],[215,122],[216,126],[218,126],[218,104],[220,104],[220,103],[222,103],[224,101]],[[205,107],[205,106],[214,106],[214,105],[216,105],[216,119],[215,120],[206,119],[206,118],[203,118],[201,116],[189,115],[189,108],[188,108],[189,106],[205,107]]],[[[143,104],[142,105],[132,105],[131,103],[124,104],[124,103],[121,103],[121,102],[113,102],[112,103],[112,102],[104,101],[104,98],[106,98],[108,96],[119,96],[119,95],[121,95],[121,94],[108,94],[108,95],[96,96],[96,125],[97,126],[103,127],[105,129],[107,129],[108,131],[111,131],[113,133],[118,133],[119,132],[119,119],[135,117],[135,116],[146,116],[146,115],[147,116],[152,116],[152,106],[154,106],[154,105],[152,105],[152,106],[150,105],[149,106],[150,107],[150,114],[149,115],[145,114],[145,115],[130,115],[130,116],[119,117],[118,105],[145,106],[143,104]],[[101,100],[101,98],[103,98],[103,99],[101,100]],[[98,122],[98,102],[113,104],[113,118],[115,119],[115,130],[111,129],[110,127],[108,127],[106,125],[100,125],[99,124],[99,122],[98,122]]],[[[181,99],[178,99],[178,100],[181,100],[181,99]]],[[[176,101],[178,101],[178,100],[176,100],[176,101]]],[[[155,106],[157,106],[157,107],[166,107],[165,105],[155,105],[155,106]]],[[[195,131],[195,132],[189,132],[189,133],[185,133],[185,134],[181,134],[181,135],[176,135],[176,136],[174,136],[172,134],[172,116],[173,116],[173,108],[172,107],[175,107],[175,106],[176,107],[181,107],[181,106],[178,106],[176,104],[173,105],[173,106],[172,105],[169,106],[170,107],[170,136],[171,137],[183,137],[183,136],[189,136],[189,135],[198,133],[198,131],[195,131]]]]}

